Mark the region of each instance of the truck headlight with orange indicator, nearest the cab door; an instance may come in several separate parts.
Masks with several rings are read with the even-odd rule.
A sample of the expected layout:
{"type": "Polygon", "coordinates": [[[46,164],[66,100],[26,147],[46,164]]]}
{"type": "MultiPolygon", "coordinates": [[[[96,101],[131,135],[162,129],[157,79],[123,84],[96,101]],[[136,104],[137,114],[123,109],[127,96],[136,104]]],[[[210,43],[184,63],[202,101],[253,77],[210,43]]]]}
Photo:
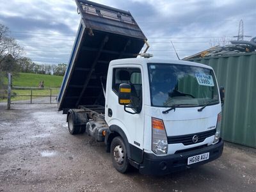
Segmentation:
{"type": "Polygon", "coordinates": [[[152,118],[152,151],[156,154],[166,154],[168,151],[167,136],[163,120],[152,118]]]}

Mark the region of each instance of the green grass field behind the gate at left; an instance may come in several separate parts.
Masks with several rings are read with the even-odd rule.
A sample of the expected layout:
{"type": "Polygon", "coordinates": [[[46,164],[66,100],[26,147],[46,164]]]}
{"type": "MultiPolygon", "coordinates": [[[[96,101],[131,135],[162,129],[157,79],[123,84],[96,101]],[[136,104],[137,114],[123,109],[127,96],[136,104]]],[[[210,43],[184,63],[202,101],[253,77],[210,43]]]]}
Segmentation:
{"type": "MultiPolygon", "coordinates": [[[[58,95],[59,88],[61,86],[63,77],[61,76],[49,76],[42,74],[27,74],[20,73],[17,76],[13,76],[13,86],[22,86],[22,87],[38,87],[40,81],[44,81],[45,88],[56,88],[52,90],[52,95],[58,95]]],[[[4,82],[7,83],[7,79],[4,79],[4,82]]],[[[33,90],[33,95],[50,95],[50,90],[33,90]]],[[[31,90],[12,90],[12,100],[30,100],[31,90]],[[28,95],[28,96],[19,96],[19,95],[28,95]]],[[[33,97],[33,99],[38,97],[33,97]]],[[[52,97],[53,98],[53,97],[52,97]]],[[[6,99],[0,99],[4,102],[6,99]]]]}

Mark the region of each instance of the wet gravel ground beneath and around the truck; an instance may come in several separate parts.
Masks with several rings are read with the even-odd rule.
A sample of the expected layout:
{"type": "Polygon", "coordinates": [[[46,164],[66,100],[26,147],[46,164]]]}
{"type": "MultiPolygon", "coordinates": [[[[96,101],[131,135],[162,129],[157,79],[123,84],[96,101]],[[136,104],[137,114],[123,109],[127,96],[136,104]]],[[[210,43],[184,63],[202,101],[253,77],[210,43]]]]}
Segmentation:
{"type": "Polygon", "coordinates": [[[0,103],[0,191],[256,191],[256,149],[164,177],[116,172],[104,143],[68,133],[54,105],[0,103]]]}

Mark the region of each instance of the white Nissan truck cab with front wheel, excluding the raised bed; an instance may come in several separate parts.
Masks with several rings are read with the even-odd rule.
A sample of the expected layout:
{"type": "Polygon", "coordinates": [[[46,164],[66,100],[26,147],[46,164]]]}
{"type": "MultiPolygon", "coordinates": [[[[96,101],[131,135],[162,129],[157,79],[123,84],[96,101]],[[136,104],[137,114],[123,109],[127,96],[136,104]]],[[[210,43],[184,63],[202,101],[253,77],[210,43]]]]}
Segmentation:
{"type": "Polygon", "coordinates": [[[114,60],[102,134],[113,166],[163,175],[221,156],[221,100],[211,67],[189,61],[114,60]]]}

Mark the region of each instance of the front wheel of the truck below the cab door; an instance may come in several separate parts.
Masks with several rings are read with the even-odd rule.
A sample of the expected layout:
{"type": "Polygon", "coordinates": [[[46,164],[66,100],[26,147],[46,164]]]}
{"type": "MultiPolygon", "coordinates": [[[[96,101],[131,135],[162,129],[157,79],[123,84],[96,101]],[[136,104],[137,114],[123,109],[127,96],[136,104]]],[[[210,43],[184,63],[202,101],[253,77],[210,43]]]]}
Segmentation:
{"type": "Polygon", "coordinates": [[[127,150],[122,138],[115,137],[110,146],[111,159],[113,166],[120,173],[125,173],[129,170],[130,164],[127,157],[127,150]]]}

